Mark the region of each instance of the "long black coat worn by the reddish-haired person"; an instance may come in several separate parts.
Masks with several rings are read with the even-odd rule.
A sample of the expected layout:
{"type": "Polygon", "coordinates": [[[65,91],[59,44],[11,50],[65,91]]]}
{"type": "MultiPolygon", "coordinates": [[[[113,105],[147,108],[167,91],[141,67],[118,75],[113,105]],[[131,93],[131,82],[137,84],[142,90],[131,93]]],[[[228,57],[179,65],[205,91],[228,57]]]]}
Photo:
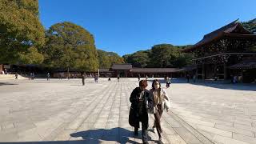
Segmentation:
{"type": "Polygon", "coordinates": [[[142,104],[142,115],[138,116],[138,102],[139,96],[142,93],[140,87],[136,87],[133,92],[130,94],[130,115],[129,123],[131,126],[138,127],[138,122],[147,122],[149,120],[147,109],[152,109],[154,107],[154,97],[149,90],[144,90],[143,95],[143,104],[142,104]]]}

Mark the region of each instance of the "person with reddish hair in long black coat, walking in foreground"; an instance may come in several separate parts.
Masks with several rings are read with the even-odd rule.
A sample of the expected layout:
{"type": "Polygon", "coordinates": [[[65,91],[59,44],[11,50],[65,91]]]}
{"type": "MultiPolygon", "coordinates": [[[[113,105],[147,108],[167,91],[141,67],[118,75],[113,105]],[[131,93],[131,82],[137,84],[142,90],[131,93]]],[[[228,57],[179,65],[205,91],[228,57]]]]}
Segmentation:
{"type": "Polygon", "coordinates": [[[134,126],[134,136],[138,136],[139,122],[142,122],[142,142],[148,144],[147,129],[149,126],[148,109],[154,108],[153,95],[146,90],[147,82],[142,80],[130,94],[129,124],[134,126]],[[151,94],[151,95],[150,95],[151,94]]]}

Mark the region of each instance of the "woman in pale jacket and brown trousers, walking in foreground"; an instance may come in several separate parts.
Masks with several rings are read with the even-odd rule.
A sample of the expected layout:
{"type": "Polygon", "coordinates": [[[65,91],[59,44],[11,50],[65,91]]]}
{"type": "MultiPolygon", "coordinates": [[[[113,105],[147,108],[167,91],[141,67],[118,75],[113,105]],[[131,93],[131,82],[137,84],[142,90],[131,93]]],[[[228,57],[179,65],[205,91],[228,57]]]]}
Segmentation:
{"type": "Polygon", "coordinates": [[[152,89],[150,89],[150,93],[153,94],[154,96],[154,126],[153,126],[153,131],[156,133],[158,132],[158,142],[159,143],[164,143],[162,141],[162,126],[161,126],[161,117],[163,110],[170,109],[170,98],[166,94],[166,91],[162,89],[160,82],[158,79],[154,79],[152,82],[152,89]]]}

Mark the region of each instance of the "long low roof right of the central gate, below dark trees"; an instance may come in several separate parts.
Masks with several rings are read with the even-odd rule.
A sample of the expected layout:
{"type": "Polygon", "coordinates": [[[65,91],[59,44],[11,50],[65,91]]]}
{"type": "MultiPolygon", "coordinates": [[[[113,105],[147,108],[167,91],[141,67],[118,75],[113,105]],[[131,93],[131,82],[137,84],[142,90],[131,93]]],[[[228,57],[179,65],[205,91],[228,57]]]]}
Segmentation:
{"type": "Polygon", "coordinates": [[[132,73],[171,73],[177,72],[177,68],[133,68],[132,73]]]}

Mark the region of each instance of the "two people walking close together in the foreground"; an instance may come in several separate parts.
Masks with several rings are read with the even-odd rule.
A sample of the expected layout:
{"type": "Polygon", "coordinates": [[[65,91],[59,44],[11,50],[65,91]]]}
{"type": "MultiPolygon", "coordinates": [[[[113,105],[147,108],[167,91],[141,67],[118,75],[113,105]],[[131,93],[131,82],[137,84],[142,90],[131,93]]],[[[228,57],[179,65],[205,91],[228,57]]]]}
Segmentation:
{"type": "Polygon", "coordinates": [[[136,87],[130,94],[130,114],[129,123],[130,126],[134,126],[134,136],[138,136],[139,122],[142,122],[142,142],[148,143],[147,129],[149,127],[149,115],[154,114],[154,133],[158,133],[158,142],[162,142],[162,126],[161,116],[163,110],[170,109],[170,98],[166,94],[166,91],[162,89],[161,83],[158,79],[154,79],[152,82],[152,88],[146,90],[148,83],[146,80],[141,80],[139,86],[136,87]]]}

